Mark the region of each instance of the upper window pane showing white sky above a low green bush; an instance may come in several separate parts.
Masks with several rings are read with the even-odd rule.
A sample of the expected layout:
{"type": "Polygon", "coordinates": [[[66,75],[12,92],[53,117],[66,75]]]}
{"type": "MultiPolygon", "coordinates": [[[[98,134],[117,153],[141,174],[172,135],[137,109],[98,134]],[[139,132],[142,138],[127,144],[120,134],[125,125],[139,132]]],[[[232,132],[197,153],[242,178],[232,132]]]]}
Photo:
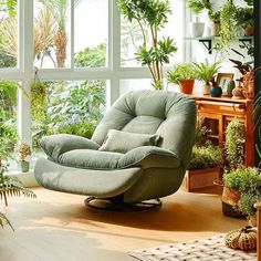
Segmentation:
{"type": "Polygon", "coordinates": [[[74,8],[75,67],[106,66],[108,1],[79,1],[74,8]]]}

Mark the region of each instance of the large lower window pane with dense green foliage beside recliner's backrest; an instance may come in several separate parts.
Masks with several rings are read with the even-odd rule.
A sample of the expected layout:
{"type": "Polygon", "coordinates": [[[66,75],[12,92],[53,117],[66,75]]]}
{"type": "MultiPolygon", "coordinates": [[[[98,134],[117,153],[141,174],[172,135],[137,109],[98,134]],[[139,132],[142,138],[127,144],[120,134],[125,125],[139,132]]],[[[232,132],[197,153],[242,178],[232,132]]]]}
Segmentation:
{"type": "Polygon", "coordinates": [[[42,136],[58,133],[90,138],[105,112],[106,81],[36,83],[32,95],[32,103],[42,104],[32,107],[34,147],[42,136]]]}

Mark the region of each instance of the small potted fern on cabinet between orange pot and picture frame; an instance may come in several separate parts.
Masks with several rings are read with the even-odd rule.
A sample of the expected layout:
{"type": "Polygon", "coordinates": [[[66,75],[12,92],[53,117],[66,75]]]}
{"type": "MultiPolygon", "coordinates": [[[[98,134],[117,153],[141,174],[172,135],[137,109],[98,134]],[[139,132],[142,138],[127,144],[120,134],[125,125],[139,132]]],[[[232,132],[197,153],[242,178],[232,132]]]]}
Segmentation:
{"type": "Polygon", "coordinates": [[[210,82],[220,69],[220,62],[215,62],[210,64],[209,61],[206,60],[205,63],[194,63],[194,64],[198,80],[205,82],[205,84],[202,85],[202,94],[207,95],[209,94],[211,87],[210,82]]]}

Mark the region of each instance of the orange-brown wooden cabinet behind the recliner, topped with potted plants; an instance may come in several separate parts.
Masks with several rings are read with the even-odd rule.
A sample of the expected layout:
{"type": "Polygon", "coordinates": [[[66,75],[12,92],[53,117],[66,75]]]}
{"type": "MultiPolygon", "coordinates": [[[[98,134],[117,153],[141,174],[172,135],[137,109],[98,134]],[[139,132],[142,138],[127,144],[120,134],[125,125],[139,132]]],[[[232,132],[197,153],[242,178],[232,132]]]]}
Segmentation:
{"type": "Polygon", "coordinates": [[[233,100],[229,97],[211,97],[210,95],[192,95],[197,103],[198,117],[205,117],[206,126],[211,129],[210,139],[223,147],[225,130],[228,123],[238,117],[246,128],[246,161],[247,166],[254,164],[253,135],[253,101],[233,100]]]}

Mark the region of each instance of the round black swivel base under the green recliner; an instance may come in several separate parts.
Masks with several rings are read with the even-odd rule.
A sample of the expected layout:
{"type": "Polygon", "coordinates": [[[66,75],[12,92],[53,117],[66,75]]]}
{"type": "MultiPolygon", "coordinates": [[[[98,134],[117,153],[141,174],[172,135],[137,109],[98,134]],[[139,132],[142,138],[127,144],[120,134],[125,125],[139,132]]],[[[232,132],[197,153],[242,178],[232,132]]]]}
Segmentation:
{"type": "Polygon", "coordinates": [[[159,199],[152,199],[136,203],[127,203],[124,202],[122,195],[112,198],[88,197],[84,200],[84,202],[86,207],[93,209],[125,212],[159,209],[161,207],[161,201],[159,199]]]}

